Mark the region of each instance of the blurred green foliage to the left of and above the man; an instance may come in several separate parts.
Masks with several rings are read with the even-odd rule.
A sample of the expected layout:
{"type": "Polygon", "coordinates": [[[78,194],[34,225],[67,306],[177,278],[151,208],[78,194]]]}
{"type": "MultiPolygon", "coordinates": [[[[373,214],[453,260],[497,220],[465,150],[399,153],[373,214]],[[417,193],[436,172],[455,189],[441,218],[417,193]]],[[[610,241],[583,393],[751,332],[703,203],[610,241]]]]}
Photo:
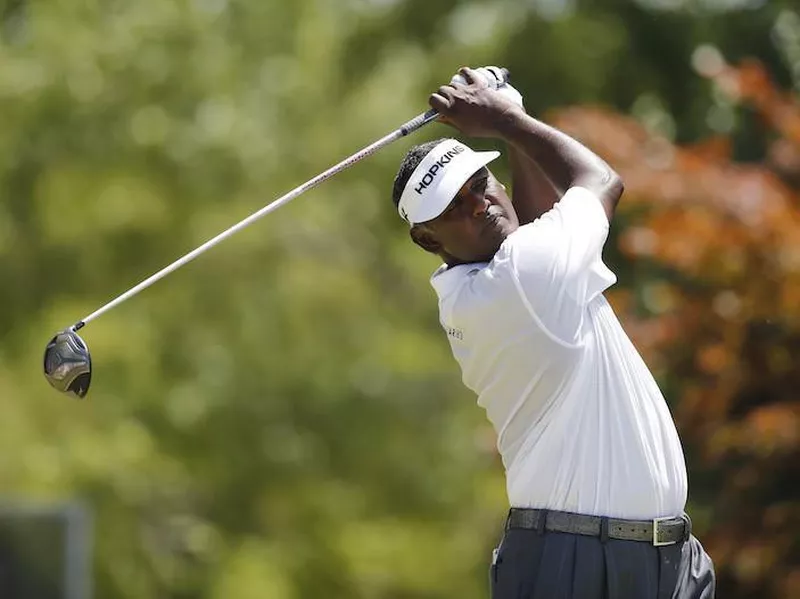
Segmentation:
{"type": "Polygon", "coordinates": [[[451,130],[92,323],[86,402],[47,386],[45,343],[424,110],[461,65],[508,66],[533,114],[607,104],[757,159],[692,56],[714,44],[799,85],[791,5],[0,0],[0,489],[91,506],[104,599],[486,596],[502,469],[438,326],[436,261],[390,200],[409,145],[451,130]]]}

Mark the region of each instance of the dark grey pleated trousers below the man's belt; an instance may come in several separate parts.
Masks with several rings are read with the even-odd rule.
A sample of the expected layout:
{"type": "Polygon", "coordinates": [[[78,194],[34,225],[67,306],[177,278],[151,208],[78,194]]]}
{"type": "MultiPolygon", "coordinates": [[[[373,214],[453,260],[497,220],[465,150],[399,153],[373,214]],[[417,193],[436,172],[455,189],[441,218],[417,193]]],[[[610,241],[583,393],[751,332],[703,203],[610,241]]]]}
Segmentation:
{"type": "Polygon", "coordinates": [[[512,529],[490,572],[492,599],[712,599],[714,566],[694,536],[639,541],[512,529]]]}

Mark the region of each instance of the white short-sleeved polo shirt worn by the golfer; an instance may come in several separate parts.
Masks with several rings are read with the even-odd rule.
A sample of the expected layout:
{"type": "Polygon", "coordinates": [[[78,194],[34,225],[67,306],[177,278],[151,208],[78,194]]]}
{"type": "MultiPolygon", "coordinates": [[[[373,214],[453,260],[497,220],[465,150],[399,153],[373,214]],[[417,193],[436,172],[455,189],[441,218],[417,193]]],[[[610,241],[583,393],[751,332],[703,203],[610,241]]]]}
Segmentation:
{"type": "Polygon", "coordinates": [[[464,383],[497,432],[514,507],[679,515],[686,467],[653,376],[602,293],[608,219],[570,189],[489,263],[431,283],[464,383]]]}

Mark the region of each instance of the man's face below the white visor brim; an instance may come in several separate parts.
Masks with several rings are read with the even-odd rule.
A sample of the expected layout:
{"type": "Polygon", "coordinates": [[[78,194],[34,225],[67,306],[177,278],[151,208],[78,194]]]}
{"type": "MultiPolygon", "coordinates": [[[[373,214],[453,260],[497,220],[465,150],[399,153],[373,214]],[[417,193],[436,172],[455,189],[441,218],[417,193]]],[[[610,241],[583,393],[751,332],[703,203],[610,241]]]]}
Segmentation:
{"type": "Polygon", "coordinates": [[[505,188],[483,167],[461,187],[442,214],[414,225],[411,236],[448,264],[488,262],[517,227],[517,214],[505,188]]]}

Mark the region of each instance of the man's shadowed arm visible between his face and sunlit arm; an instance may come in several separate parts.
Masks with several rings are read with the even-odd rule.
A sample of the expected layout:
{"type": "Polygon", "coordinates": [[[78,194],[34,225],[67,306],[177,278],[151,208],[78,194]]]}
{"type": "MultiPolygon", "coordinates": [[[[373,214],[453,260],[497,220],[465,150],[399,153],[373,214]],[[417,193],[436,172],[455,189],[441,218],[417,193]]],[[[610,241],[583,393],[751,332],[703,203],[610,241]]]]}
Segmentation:
{"type": "Polygon", "coordinates": [[[566,190],[557,189],[536,162],[510,144],[508,162],[511,166],[514,209],[519,223],[524,225],[550,210],[566,190]]]}

